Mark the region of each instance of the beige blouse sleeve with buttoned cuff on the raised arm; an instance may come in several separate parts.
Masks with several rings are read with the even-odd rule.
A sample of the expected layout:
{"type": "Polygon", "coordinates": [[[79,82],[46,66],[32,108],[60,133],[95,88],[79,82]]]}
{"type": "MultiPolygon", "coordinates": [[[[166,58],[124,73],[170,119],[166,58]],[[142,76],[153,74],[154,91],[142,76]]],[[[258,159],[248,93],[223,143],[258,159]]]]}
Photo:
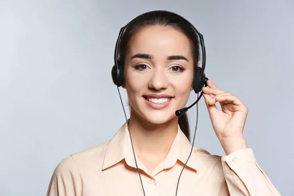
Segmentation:
{"type": "Polygon", "coordinates": [[[221,164],[231,196],[281,196],[256,163],[251,148],[221,157],[221,164]]]}

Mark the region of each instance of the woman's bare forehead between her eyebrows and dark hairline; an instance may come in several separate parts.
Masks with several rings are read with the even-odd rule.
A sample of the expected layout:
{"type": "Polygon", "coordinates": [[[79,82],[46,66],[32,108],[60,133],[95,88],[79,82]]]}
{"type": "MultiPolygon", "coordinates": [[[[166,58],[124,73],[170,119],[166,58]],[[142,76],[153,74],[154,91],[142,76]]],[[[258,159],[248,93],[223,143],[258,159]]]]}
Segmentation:
{"type": "Polygon", "coordinates": [[[172,27],[150,26],[140,29],[130,39],[128,53],[149,53],[156,56],[185,55],[192,58],[191,42],[172,27]]]}

